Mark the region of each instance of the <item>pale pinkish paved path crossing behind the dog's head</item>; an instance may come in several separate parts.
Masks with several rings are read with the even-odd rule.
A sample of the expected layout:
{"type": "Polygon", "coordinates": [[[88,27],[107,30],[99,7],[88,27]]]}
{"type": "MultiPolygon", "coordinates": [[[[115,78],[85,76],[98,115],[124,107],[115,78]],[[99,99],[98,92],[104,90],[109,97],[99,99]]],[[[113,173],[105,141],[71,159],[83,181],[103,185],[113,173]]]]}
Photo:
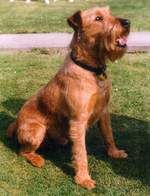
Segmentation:
{"type": "MultiPolygon", "coordinates": [[[[71,33],[0,34],[0,49],[66,48],[71,38],[71,33]]],[[[130,33],[128,50],[150,51],[150,32],[130,33]]]]}

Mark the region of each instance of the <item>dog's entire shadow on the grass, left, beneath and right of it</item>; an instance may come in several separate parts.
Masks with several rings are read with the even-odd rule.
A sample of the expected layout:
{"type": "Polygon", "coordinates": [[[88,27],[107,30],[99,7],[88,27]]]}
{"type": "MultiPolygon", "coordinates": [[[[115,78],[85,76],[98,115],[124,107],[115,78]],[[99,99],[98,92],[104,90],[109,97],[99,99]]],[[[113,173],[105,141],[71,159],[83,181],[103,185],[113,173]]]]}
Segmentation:
{"type": "MultiPolygon", "coordinates": [[[[24,100],[22,99],[9,99],[3,102],[2,105],[10,113],[16,115],[23,103],[24,100]]],[[[6,138],[6,129],[13,120],[14,118],[7,113],[0,113],[0,134],[2,142],[11,150],[18,152],[17,142],[10,142],[6,138]]],[[[150,123],[112,114],[112,126],[115,130],[114,137],[117,146],[125,149],[129,154],[129,158],[126,160],[112,160],[108,158],[104,151],[102,140],[99,139],[96,127],[93,127],[88,133],[88,154],[94,156],[97,160],[107,162],[117,175],[128,179],[140,180],[143,184],[150,185],[150,123]]],[[[45,159],[50,160],[65,173],[73,176],[70,147],[62,148],[50,144],[48,148],[40,150],[40,153],[45,159]]]]}

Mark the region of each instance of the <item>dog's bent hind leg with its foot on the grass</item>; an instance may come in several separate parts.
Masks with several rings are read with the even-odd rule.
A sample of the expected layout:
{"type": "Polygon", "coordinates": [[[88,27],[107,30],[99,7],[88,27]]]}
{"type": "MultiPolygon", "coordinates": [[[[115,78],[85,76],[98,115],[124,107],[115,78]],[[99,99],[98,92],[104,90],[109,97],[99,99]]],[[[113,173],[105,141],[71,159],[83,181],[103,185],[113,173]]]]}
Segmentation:
{"type": "Polygon", "coordinates": [[[36,122],[26,123],[18,129],[20,155],[35,167],[42,167],[44,159],[36,153],[46,134],[46,127],[36,122]]]}

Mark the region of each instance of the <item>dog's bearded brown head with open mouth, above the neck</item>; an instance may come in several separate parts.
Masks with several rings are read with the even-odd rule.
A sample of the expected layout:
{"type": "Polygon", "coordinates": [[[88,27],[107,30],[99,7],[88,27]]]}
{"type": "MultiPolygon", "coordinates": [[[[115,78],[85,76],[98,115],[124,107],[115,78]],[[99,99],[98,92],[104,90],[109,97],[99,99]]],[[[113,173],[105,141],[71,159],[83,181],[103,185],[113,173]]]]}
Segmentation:
{"type": "Polygon", "coordinates": [[[111,15],[109,8],[78,11],[68,19],[78,42],[97,50],[110,60],[120,58],[127,49],[130,22],[111,15]]]}

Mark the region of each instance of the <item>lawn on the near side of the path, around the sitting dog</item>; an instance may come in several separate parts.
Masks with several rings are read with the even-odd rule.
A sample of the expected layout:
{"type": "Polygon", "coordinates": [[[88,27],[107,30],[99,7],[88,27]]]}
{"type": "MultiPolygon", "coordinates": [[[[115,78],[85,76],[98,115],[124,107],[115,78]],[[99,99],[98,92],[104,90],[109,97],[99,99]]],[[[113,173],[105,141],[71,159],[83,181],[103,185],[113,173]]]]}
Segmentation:
{"type": "Polygon", "coordinates": [[[129,158],[108,158],[97,128],[91,128],[87,150],[90,173],[97,182],[94,190],[74,184],[70,147],[50,145],[41,152],[46,165],[38,169],[17,155],[16,141],[7,140],[7,126],[21,105],[47,83],[63,58],[63,53],[46,50],[0,54],[0,195],[150,195],[149,53],[127,54],[109,63],[112,126],[117,145],[129,158]]]}

